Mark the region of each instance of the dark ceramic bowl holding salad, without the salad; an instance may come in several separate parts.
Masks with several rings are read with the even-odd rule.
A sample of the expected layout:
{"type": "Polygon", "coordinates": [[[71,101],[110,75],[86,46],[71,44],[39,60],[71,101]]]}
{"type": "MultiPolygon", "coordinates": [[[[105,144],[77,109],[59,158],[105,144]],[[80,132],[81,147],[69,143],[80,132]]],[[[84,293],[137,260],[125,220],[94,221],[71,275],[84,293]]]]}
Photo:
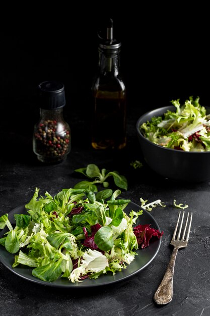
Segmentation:
{"type": "MultiPolygon", "coordinates": [[[[136,130],[144,159],[157,174],[178,181],[204,182],[210,180],[210,151],[182,151],[156,145],[146,139],[139,127],[154,116],[162,116],[167,110],[175,111],[174,106],[152,110],[142,115],[136,130]]],[[[209,108],[206,108],[209,113],[209,108]]]]}

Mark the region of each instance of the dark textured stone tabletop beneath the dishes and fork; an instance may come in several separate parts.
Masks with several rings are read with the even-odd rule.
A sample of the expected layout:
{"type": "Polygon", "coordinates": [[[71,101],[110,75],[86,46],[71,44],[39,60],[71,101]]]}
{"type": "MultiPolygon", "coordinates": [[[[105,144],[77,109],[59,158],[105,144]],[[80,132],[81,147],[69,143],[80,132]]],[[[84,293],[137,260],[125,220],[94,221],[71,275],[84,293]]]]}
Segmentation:
{"type": "MultiPolygon", "coordinates": [[[[154,260],[141,272],[113,285],[89,289],[43,286],[25,280],[0,262],[1,315],[195,315],[210,314],[210,179],[205,183],[179,183],[154,174],[143,160],[135,133],[135,113],[128,115],[127,146],[119,152],[94,150],[83,122],[71,117],[72,150],[65,162],[45,166],[32,151],[32,122],[27,129],[15,122],[1,132],[0,215],[28,202],[35,187],[40,194],[71,188],[85,180],[74,170],[90,163],[117,170],[127,177],[128,190],[121,196],[141,205],[140,198],[152,202],[161,199],[167,207],[156,207],[151,215],[164,232],[154,260]],[[130,166],[143,163],[141,169],[130,166]],[[173,201],[188,204],[193,213],[189,242],[178,251],[173,300],[157,306],[153,295],[167,268],[178,208],[173,201]]],[[[194,170],[196,172],[196,169],[194,170]]],[[[113,184],[110,184],[113,185],[113,184]]]]}

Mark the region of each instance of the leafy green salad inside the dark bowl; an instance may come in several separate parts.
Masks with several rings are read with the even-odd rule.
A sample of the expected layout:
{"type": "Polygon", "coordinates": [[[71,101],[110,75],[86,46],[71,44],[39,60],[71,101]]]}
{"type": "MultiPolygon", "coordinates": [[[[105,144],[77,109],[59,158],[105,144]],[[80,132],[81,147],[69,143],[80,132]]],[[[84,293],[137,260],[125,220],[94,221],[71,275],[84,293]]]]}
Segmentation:
{"type": "Polygon", "coordinates": [[[153,117],[140,127],[143,135],[153,143],[184,151],[210,150],[210,115],[192,96],[180,104],[172,100],[176,111],[167,110],[164,116],[153,117]]]}

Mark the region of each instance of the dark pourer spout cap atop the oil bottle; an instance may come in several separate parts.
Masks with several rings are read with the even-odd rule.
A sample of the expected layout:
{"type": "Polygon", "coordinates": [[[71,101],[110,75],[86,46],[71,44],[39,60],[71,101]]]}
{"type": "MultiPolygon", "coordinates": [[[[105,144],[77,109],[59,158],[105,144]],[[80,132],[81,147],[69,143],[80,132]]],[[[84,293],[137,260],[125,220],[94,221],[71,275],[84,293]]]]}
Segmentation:
{"type": "Polygon", "coordinates": [[[106,23],[106,36],[105,38],[99,37],[99,47],[104,49],[116,49],[121,46],[121,42],[113,38],[113,20],[108,19],[106,23]]]}

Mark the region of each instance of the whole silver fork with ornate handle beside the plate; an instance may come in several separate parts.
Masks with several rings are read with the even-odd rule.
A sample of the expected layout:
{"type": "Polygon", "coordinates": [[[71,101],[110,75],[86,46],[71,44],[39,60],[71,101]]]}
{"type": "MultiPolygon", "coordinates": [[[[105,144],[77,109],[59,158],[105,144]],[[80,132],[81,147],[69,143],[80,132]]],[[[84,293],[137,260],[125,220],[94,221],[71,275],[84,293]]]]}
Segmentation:
{"type": "Polygon", "coordinates": [[[178,235],[176,238],[176,232],[177,232],[177,228],[179,225],[180,215],[181,215],[181,211],[179,212],[177,224],[176,224],[174,234],[173,234],[173,237],[172,237],[172,240],[170,243],[171,245],[174,246],[173,252],[171,254],[171,259],[169,261],[168,268],[167,268],[166,273],[163,277],[163,280],[161,281],[161,284],[159,285],[159,287],[157,288],[157,291],[154,294],[154,301],[159,305],[160,304],[161,305],[167,304],[167,303],[171,302],[171,300],[172,300],[174,265],[175,265],[176,255],[177,255],[179,248],[184,248],[187,246],[187,242],[189,239],[190,227],[191,227],[191,223],[192,223],[192,213],[190,216],[189,226],[188,226],[188,230],[187,230],[187,236],[185,238],[187,223],[188,223],[188,219],[189,219],[189,213],[187,214],[187,219],[186,219],[186,223],[185,223],[185,227],[184,227],[184,231],[182,233],[181,239],[180,239],[180,235],[181,235],[181,229],[182,229],[182,224],[183,224],[183,220],[184,220],[184,211],[182,214],[179,232],[178,232],[178,235]]]}

